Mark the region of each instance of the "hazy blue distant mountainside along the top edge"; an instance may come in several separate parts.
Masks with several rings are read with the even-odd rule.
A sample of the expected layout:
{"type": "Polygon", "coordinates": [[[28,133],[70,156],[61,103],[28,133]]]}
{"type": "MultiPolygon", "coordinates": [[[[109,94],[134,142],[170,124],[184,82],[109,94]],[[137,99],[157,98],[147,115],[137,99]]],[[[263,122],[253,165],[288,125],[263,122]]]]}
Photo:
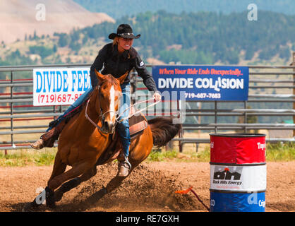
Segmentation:
{"type": "Polygon", "coordinates": [[[93,12],[104,12],[113,18],[134,16],[138,13],[164,10],[169,13],[220,12],[233,13],[247,10],[248,4],[256,4],[259,11],[272,11],[294,15],[294,0],[74,0],[93,12]]]}

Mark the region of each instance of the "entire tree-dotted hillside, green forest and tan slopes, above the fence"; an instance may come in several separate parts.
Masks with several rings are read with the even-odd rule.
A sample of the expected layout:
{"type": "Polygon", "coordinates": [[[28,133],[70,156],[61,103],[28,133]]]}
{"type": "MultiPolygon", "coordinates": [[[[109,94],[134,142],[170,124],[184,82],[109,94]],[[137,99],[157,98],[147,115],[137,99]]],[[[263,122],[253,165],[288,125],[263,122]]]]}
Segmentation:
{"type": "Polygon", "coordinates": [[[110,32],[120,23],[130,23],[140,39],[133,45],[143,59],[168,64],[271,64],[290,61],[295,51],[295,16],[260,11],[260,20],[249,21],[245,12],[228,15],[200,13],[139,13],[116,23],[101,23],[81,29],[35,35],[25,42],[0,48],[0,65],[89,63],[110,42],[110,32]],[[185,24],[185,26],[184,26],[185,24]],[[16,59],[21,59],[16,61],[16,59]],[[22,63],[23,62],[23,63],[22,63]],[[31,63],[31,64],[32,64],[31,63]]]}

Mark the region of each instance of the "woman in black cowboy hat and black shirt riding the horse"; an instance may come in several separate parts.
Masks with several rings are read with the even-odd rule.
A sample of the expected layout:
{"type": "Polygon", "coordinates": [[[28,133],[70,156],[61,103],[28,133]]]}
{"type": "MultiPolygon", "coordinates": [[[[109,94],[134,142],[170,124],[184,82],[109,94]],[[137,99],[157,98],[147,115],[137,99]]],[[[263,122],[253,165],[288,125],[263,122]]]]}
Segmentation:
{"type": "MultiPolygon", "coordinates": [[[[89,97],[92,90],[97,85],[97,76],[95,76],[95,69],[100,71],[102,70],[102,74],[112,74],[115,78],[119,78],[126,71],[131,71],[131,69],[135,68],[138,72],[138,76],[143,78],[143,83],[148,88],[148,90],[154,92],[154,97],[156,100],[160,100],[161,95],[157,91],[155,81],[152,78],[151,74],[145,67],[144,62],[140,59],[138,52],[136,49],[132,47],[133,39],[138,39],[140,35],[133,35],[133,30],[128,24],[121,24],[116,30],[116,33],[112,33],[109,35],[109,39],[113,40],[113,42],[106,44],[100,52],[98,53],[94,63],[90,68],[90,78],[92,87],[81,95],[76,102],[69,107],[63,115],[61,115],[55,121],[52,121],[49,124],[49,128],[47,129],[47,133],[44,133],[38,141],[35,143],[31,143],[32,148],[41,149],[43,147],[52,147],[54,145],[54,141],[59,137],[59,133],[61,133],[64,125],[66,124],[66,117],[72,117],[75,114],[75,110],[80,107],[80,105],[85,102],[85,100],[89,97]]],[[[123,113],[130,105],[130,76],[128,75],[123,84],[121,84],[122,90],[122,100],[121,107],[119,108],[119,114],[123,113]]],[[[123,114],[121,114],[120,119],[124,119],[128,117],[129,110],[127,109],[123,114]]],[[[117,126],[119,136],[121,138],[121,144],[123,148],[123,153],[125,157],[119,161],[119,177],[127,177],[130,170],[130,163],[128,162],[129,155],[129,146],[131,142],[130,132],[129,132],[129,121],[125,119],[121,121],[117,126]]]]}

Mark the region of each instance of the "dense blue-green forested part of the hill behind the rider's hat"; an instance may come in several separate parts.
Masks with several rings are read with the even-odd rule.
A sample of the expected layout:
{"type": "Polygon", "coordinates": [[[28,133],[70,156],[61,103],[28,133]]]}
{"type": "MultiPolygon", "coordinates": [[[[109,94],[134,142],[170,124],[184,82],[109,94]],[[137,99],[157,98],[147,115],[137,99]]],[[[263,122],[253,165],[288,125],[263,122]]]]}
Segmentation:
{"type": "MultiPolygon", "coordinates": [[[[273,57],[289,61],[295,50],[295,16],[267,11],[260,11],[258,21],[249,21],[245,12],[139,13],[116,20],[116,24],[76,30],[76,36],[109,42],[107,36],[119,23],[130,23],[134,32],[141,34],[134,46],[144,59],[152,57],[165,63],[240,64],[273,57]]],[[[72,40],[71,45],[75,42],[79,41],[72,40]]]]}

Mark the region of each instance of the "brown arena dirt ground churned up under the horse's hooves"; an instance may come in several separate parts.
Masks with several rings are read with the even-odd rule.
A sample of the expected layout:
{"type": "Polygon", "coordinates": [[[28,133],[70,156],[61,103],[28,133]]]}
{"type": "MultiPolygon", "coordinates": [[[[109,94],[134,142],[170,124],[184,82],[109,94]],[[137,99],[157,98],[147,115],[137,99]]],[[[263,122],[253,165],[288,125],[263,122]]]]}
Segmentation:
{"type": "MultiPolygon", "coordinates": [[[[267,212],[295,211],[295,162],[267,162],[267,212]]],[[[49,167],[0,167],[0,211],[21,211],[47,184],[49,167]]],[[[207,212],[192,192],[209,207],[210,165],[208,162],[143,162],[121,186],[102,194],[103,186],[116,175],[116,164],[97,167],[92,179],[64,194],[56,208],[41,205],[36,211],[107,212],[207,212]]]]}

